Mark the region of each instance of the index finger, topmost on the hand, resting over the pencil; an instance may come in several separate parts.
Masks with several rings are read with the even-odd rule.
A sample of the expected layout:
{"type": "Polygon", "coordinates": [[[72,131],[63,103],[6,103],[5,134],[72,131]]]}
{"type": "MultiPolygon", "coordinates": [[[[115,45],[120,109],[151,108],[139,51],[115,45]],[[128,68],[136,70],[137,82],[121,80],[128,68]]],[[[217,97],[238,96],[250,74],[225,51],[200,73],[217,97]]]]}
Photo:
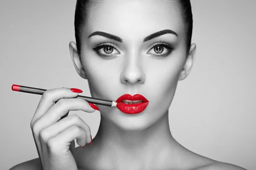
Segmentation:
{"type": "Polygon", "coordinates": [[[79,93],[75,93],[70,88],[55,88],[47,90],[43,93],[35,114],[31,120],[31,127],[46,111],[53,106],[53,103],[62,98],[74,98],[79,93]]]}

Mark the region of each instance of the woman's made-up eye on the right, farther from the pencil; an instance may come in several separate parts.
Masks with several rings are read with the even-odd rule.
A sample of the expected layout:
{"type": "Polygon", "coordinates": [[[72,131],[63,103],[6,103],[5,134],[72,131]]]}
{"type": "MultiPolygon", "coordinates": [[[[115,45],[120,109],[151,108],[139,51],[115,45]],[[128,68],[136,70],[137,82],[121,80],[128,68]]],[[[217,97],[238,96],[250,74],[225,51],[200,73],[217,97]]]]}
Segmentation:
{"type": "Polygon", "coordinates": [[[158,42],[147,52],[147,54],[151,54],[151,56],[154,57],[165,57],[171,54],[174,50],[175,48],[172,45],[164,42],[158,42]]]}

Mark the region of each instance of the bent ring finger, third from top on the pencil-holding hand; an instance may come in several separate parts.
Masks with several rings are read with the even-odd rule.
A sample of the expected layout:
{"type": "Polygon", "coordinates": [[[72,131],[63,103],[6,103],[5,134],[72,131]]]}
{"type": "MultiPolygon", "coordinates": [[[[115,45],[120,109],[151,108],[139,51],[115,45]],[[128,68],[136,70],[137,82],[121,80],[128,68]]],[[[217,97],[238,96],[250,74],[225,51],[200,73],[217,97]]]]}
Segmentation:
{"type": "Polygon", "coordinates": [[[90,143],[90,127],[76,114],[67,116],[64,119],[61,119],[60,121],[56,122],[53,125],[50,125],[43,130],[40,131],[39,136],[40,139],[44,142],[48,141],[50,138],[57,136],[59,133],[67,129],[68,127],[71,127],[73,125],[76,125],[83,129],[86,133],[87,137],[87,143],[90,143]]]}

